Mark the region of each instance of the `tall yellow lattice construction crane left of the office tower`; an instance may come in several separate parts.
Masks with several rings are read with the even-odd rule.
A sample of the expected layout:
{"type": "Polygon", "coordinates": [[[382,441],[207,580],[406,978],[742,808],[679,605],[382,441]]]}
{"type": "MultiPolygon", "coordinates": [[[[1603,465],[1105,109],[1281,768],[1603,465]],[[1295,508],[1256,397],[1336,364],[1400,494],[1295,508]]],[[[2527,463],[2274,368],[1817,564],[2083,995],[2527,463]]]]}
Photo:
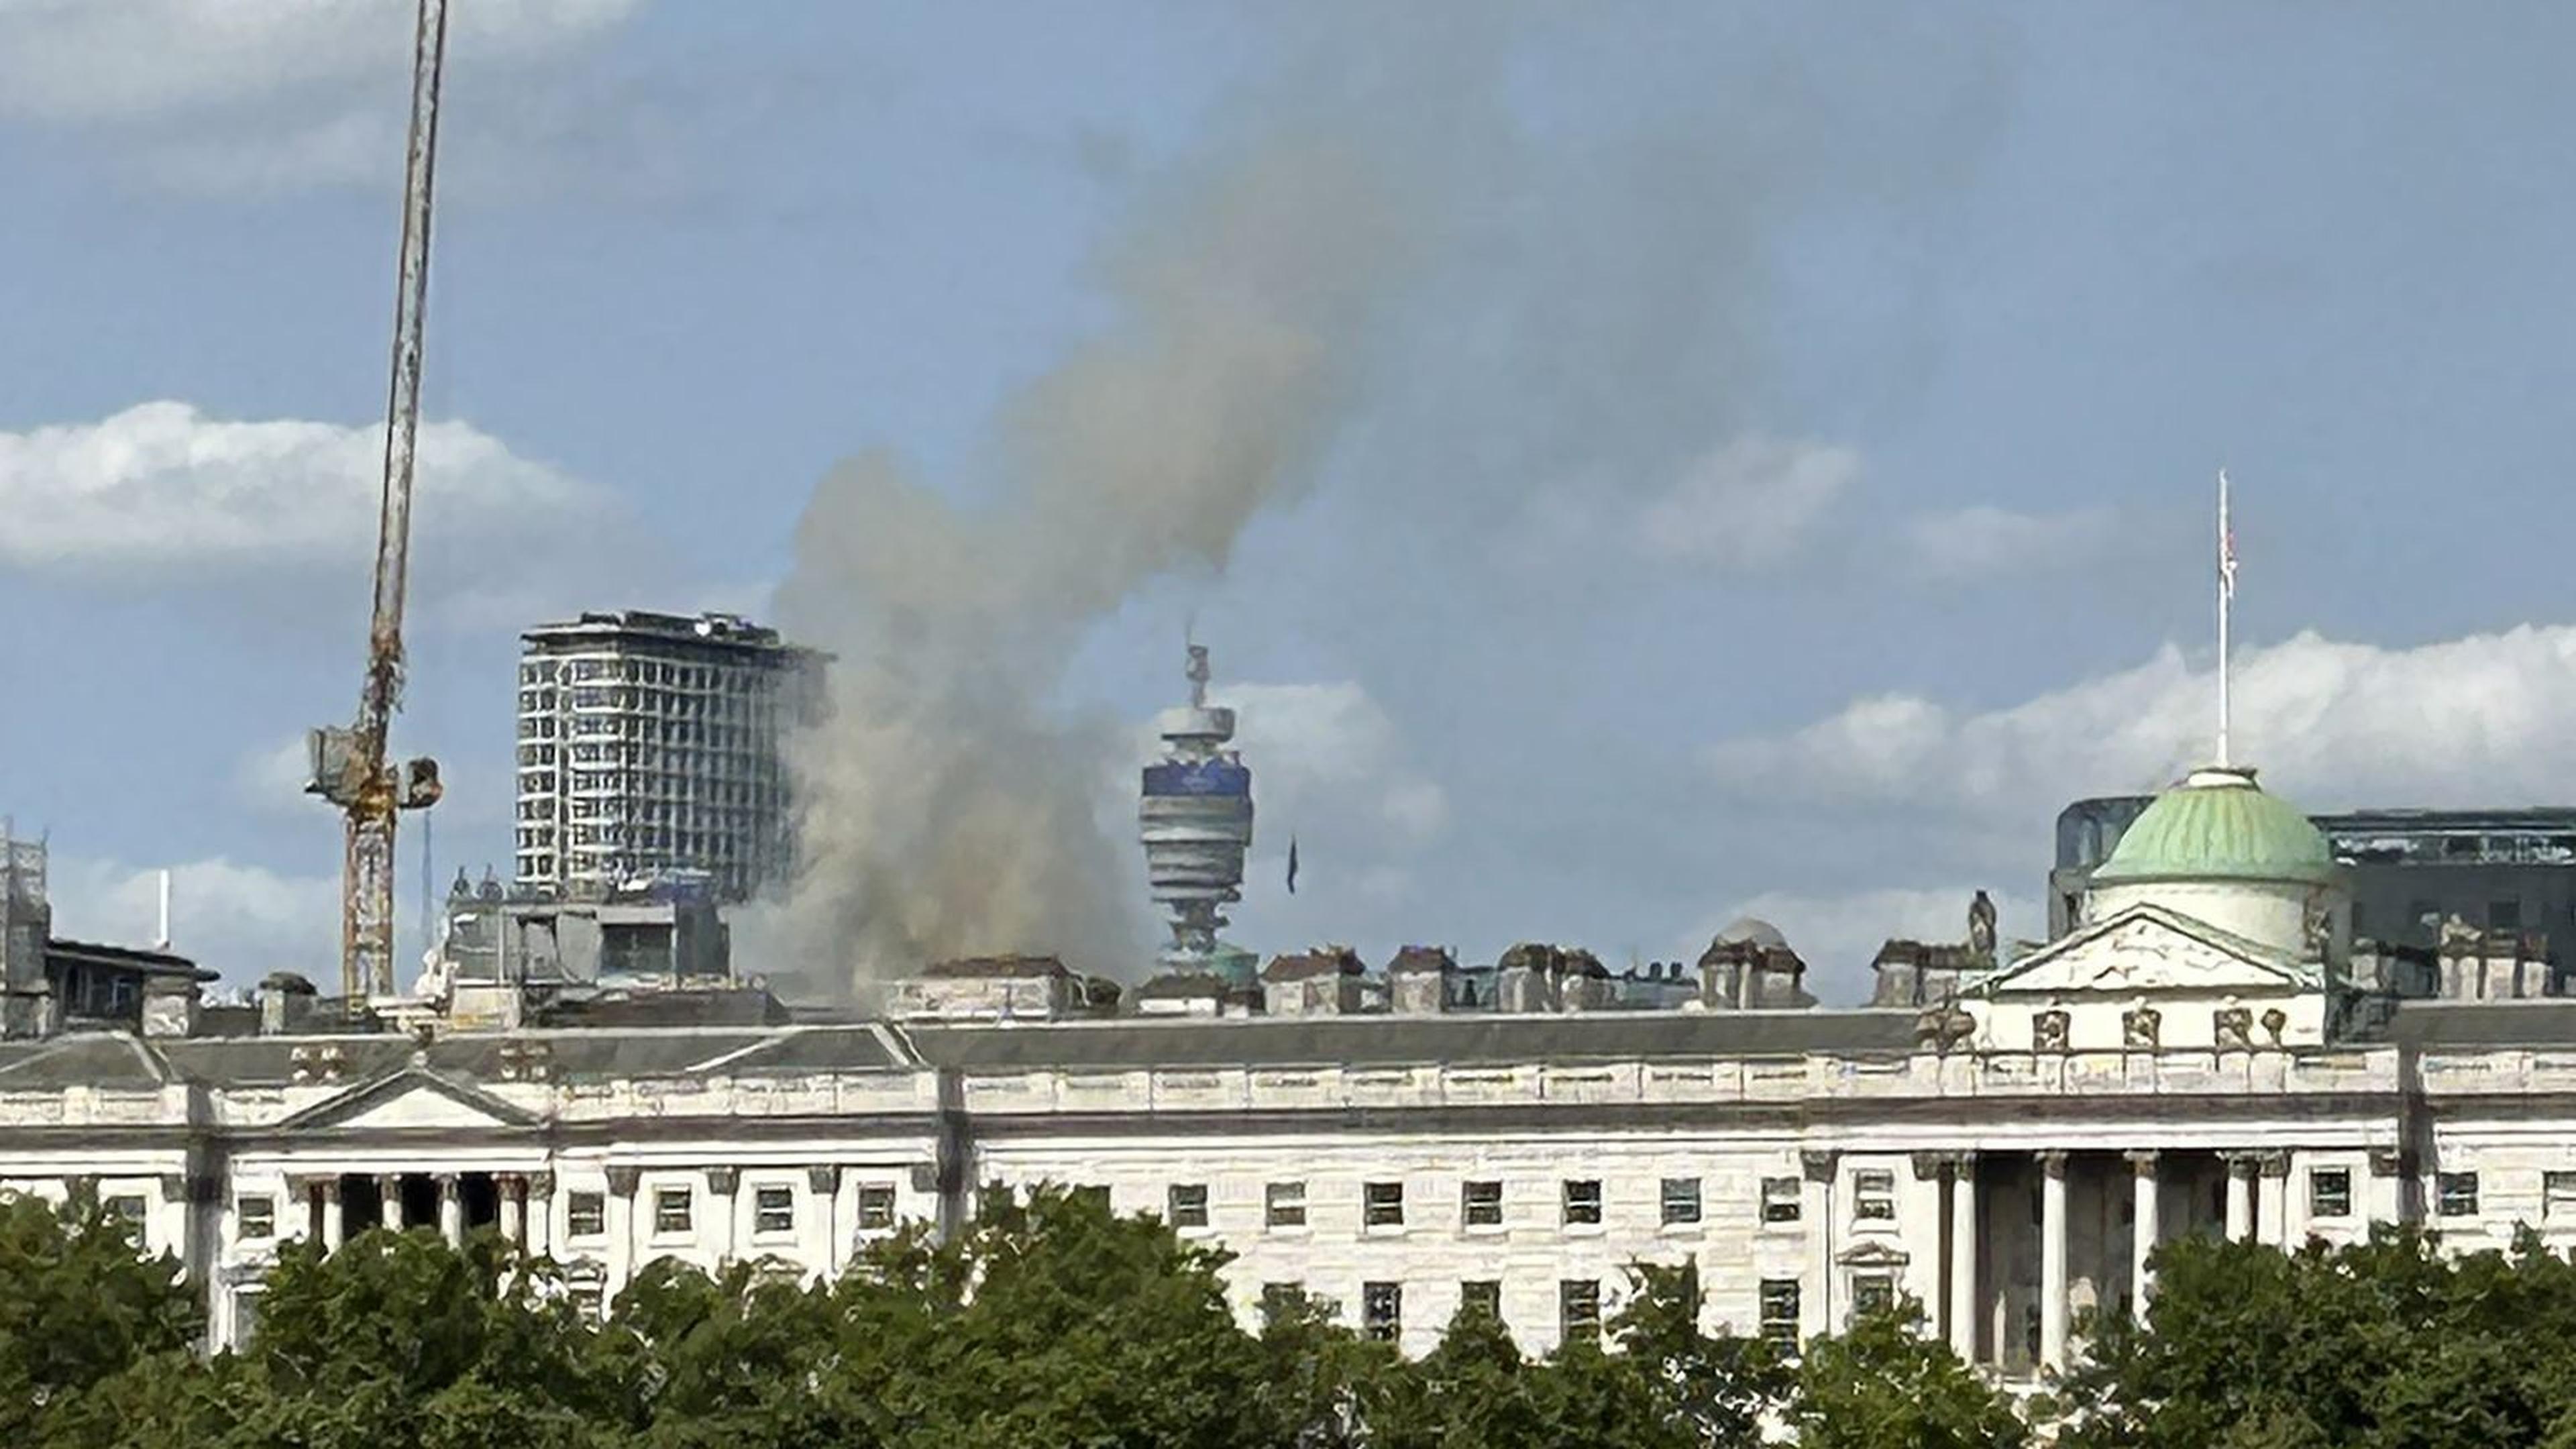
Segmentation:
{"type": "Polygon", "coordinates": [[[438,802],[438,761],[394,766],[384,737],[402,709],[402,593],[412,557],[412,449],[420,436],[420,322],[430,294],[430,173],[438,160],[438,72],[446,0],[420,0],[412,36],[412,139],[402,170],[402,263],[394,286],[394,382],[384,402],[384,503],[376,516],[376,608],[366,629],[358,722],[307,737],[307,794],[348,817],[340,877],[340,995],[363,1013],[394,993],[394,817],[438,802]]]}

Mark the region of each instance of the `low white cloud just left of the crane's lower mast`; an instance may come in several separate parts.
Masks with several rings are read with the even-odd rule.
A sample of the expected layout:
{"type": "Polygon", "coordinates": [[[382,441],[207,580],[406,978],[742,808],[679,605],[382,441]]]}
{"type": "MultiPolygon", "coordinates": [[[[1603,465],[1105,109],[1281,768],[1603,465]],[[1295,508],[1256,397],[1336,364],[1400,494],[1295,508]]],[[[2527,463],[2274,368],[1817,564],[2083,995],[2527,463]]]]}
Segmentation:
{"type": "MultiPolygon", "coordinates": [[[[54,856],[46,884],[57,936],[144,946],[157,931],[157,869],[54,856]]],[[[332,990],[340,959],[340,882],[289,877],[227,856],[173,864],[170,949],[224,972],[234,985],[283,969],[332,990]]]]}

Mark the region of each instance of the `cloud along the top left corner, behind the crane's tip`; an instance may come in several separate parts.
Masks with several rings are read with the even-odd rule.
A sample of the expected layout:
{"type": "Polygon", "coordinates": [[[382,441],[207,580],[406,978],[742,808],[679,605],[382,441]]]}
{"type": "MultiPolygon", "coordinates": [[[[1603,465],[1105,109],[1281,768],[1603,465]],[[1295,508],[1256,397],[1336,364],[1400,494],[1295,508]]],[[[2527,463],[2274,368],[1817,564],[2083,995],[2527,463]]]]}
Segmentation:
{"type": "MultiPolygon", "coordinates": [[[[448,62],[541,57],[641,0],[459,0],[448,62]]],[[[0,0],[0,111],[144,121],[366,83],[407,95],[412,0],[0,0]]]]}

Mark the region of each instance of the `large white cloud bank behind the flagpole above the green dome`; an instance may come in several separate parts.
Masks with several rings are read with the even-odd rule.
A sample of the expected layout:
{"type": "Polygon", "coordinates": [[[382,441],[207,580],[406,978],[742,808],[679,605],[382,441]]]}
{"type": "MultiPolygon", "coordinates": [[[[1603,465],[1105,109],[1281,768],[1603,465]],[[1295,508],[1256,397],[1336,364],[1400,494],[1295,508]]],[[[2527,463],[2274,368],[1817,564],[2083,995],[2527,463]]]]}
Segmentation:
{"type": "MultiPolygon", "coordinates": [[[[2311,810],[2524,804],[2576,794],[2576,627],[2519,627],[2411,650],[2298,634],[2236,660],[2236,755],[2311,810]]],[[[2038,699],[1958,712],[1878,696],[1705,761],[1731,792],[1963,830],[2038,830],[2069,799],[2156,789],[2205,763],[2215,683],[2174,647],[2038,699]]]]}

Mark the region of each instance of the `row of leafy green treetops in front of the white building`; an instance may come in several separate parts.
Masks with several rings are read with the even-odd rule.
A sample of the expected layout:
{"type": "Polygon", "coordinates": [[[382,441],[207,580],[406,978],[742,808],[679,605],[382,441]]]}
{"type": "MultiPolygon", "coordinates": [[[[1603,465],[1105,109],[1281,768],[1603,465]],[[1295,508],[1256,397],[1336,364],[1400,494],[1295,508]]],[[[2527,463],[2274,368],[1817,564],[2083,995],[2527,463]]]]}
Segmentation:
{"type": "Polygon", "coordinates": [[[33,1449],[2576,1449],[2576,1266],[2535,1238],[2295,1253],[2184,1240],[2146,1323],[2032,1405],[1914,1305],[1795,1359],[1705,1325],[1692,1266],[1631,1269],[1597,1338],[1525,1354],[1481,1307],[1404,1359],[1226,1253],[1090,1194],[987,1194],[840,1279],[652,1263],[605,1310],[497,1238],[289,1245],[258,1330],[204,1354],[196,1289],[95,1207],[0,1201],[0,1444],[33,1449]]]}

